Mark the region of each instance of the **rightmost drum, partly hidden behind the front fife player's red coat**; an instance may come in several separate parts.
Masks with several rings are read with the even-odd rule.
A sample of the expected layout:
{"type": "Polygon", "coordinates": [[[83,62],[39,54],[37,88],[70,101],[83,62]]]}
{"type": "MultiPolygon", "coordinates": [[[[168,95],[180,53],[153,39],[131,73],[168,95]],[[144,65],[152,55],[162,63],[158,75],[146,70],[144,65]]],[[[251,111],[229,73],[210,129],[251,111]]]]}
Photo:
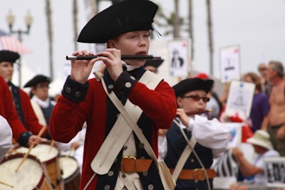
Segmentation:
{"type": "Polygon", "coordinates": [[[81,181],[81,171],[77,160],[73,157],[60,157],[59,161],[63,169],[64,189],[78,190],[81,181]]]}

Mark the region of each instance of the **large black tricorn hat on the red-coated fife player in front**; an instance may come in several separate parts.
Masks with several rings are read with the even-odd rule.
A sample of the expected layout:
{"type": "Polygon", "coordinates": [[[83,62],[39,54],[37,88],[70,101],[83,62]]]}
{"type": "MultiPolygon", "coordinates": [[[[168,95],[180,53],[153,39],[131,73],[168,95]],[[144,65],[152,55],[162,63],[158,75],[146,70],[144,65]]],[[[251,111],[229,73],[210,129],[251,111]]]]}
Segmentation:
{"type": "Polygon", "coordinates": [[[152,22],[157,9],[158,6],[148,0],[120,1],[93,16],[77,41],[105,43],[122,33],[153,30],[152,22]]]}

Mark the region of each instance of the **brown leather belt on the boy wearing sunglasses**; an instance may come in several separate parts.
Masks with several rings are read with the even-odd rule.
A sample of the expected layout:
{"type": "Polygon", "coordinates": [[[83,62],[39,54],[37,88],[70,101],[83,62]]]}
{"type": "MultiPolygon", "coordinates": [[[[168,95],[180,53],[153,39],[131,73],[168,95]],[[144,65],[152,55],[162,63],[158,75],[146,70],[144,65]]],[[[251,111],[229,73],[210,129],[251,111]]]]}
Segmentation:
{"type": "MultiPolygon", "coordinates": [[[[174,169],[169,169],[172,174],[174,169]]],[[[214,169],[206,169],[207,176],[209,179],[217,176],[216,171],[214,169]]],[[[203,181],[206,179],[206,175],[204,174],[203,169],[182,169],[178,179],[194,179],[196,181],[203,181]]]]}

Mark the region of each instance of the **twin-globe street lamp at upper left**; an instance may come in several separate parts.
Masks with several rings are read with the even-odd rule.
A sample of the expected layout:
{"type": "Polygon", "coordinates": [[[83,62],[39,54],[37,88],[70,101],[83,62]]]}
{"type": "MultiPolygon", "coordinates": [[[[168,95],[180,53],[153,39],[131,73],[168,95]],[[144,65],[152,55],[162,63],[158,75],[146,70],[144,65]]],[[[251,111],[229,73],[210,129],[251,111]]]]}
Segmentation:
{"type": "MultiPolygon", "coordinates": [[[[26,31],[22,31],[22,30],[13,30],[13,25],[14,25],[14,21],[15,21],[15,16],[12,14],[11,10],[9,11],[9,14],[6,16],[6,21],[9,25],[9,31],[10,33],[17,33],[18,34],[18,39],[20,41],[20,43],[22,42],[23,38],[22,35],[26,34],[28,35],[28,33],[30,32],[30,28],[31,28],[31,23],[33,23],[33,16],[31,16],[30,11],[28,11],[28,14],[25,16],[25,23],[26,23],[26,31]]],[[[21,56],[19,59],[19,87],[21,87],[21,56]]]]}

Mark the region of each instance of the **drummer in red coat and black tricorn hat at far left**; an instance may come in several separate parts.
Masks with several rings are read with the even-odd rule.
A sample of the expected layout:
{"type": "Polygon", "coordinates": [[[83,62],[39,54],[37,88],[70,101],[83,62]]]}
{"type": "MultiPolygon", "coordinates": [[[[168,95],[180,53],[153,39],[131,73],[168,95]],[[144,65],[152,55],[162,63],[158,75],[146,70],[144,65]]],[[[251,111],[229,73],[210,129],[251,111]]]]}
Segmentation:
{"type": "MultiPolygon", "coordinates": [[[[33,134],[38,134],[38,132],[41,131],[41,128],[46,127],[46,125],[40,125],[38,123],[38,119],[31,107],[30,97],[24,92],[24,90],[21,90],[21,88],[11,83],[14,73],[14,63],[19,58],[19,53],[13,51],[0,51],[0,75],[9,85],[15,105],[14,107],[16,107],[16,113],[18,114],[22,124],[26,127],[26,130],[31,131],[33,134]]],[[[43,132],[41,137],[51,139],[48,127],[46,127],[46,130],[43,132]]]]}

